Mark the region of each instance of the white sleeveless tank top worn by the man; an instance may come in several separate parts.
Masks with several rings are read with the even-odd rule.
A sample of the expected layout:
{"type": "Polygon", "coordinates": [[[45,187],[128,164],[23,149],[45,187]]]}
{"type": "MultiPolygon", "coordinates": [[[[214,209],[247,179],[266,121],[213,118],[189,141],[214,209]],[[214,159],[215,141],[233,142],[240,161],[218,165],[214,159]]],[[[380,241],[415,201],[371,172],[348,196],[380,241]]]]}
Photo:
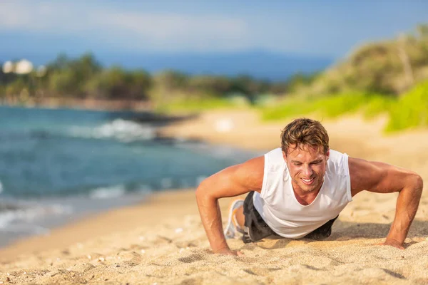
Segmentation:
{"type": "Polygon", "coordinates": [[[299,239],[337,217],[352,201],[348,156],[330,150],[324,182],[315,200],[300,204],[280,148],[265,154],[263,187],[253,195],[254,207],[266,224],[282,237],[299,239]]]}

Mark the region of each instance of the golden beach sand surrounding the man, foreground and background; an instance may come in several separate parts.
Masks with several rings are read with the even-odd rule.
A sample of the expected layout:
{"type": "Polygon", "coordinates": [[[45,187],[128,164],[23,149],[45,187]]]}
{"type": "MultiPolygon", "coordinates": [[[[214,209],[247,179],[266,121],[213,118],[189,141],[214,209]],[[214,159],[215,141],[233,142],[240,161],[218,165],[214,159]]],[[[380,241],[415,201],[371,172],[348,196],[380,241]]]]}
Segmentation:
{"type": "MultiPolygon", "coordinates": [[[[428,130],[384,136],[384,119],[323,122],[331,146],[428,177],[428,130]]],[[[215,111],[163,130],[253,150],[277,147],[282,123],[265,125],[252,111],[215,111]],[[250,128],[250,130],[248,130],[250,128]]],[[[428,194],[424,190],[405,250],[379,246],[397,194],[362,192],[335,222],[332,235],[243,244],[242,257],[212,254],[194,190],[153,195],[0,250],[4,284],[428,284],[428,194]]],[[[230,199],[220,200],[223,222],[230,199]]]]}

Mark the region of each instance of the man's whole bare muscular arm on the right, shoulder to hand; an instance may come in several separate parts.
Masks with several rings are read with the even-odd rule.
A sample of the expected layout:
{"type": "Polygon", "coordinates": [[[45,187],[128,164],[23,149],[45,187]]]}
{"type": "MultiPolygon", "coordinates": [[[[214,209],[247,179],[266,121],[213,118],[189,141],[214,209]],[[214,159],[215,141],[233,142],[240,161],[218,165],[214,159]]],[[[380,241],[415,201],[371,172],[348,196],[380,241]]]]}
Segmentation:
{"type": "Polygon", "coordinates": [[[403,248],[422,195],[422,178],[414,172],[382,162],[349,157],[352,196],[362,190],[377,193],[399,192],[394,222],[384,244],[403,248]]]}

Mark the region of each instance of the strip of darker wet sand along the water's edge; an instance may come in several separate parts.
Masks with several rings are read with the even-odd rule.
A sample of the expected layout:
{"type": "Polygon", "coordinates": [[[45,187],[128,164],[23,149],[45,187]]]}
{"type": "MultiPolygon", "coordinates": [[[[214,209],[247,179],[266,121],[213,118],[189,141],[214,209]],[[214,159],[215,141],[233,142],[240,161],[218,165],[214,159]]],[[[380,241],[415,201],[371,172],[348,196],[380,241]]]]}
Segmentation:
{"type": "MultiPolygon", "coordinates": [[[[190,197],[192,190],[168,190],[147,195],[147,199],[128,206],[108,209],[103,212],[86,214],[71,223],[54,227],[49,234],[33,235],[16,239],[6,247],[0,248],[0,262],[10,261],[17,255],[35,254],[46,250],[69,247],[71,244],[85,242],[92,237],[102,237],[112,232],[123,232],[138,227],[138,224],[153,225],[156,221],[150,217],[141,216],[141,221],[128,219],[128,216],[135,216],[143,212],[155,211],[156,217],[161,219],[169,217],[161,211],[156,210],[163,204],[171,201],[171,197],[182,201],[185,197],[190,197]],[[104,225],[108,224],[108,228],[104,225]],[[101,225],[101,226],[100,226],[101,225]],[[79,232],[78,237],[72,233],[79,232]]],[[[178,210],[180,210],[178,208],[178,210]]],[[[191,211],[190,211],[191,212],[191,211]]]]}

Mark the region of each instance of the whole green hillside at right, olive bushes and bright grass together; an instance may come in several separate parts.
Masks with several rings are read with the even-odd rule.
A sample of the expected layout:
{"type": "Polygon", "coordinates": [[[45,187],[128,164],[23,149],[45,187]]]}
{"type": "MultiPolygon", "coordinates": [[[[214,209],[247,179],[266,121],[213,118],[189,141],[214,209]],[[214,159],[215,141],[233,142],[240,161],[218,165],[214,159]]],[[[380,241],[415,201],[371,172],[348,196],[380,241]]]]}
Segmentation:
{"type": "Polygon", "coordinates": [[[428,25],[362,46],[327,71],[295,80],[289,90],[281,103],[261,108],[263,119],[384,113],[389,132],[428,126],[428,25]]]}

